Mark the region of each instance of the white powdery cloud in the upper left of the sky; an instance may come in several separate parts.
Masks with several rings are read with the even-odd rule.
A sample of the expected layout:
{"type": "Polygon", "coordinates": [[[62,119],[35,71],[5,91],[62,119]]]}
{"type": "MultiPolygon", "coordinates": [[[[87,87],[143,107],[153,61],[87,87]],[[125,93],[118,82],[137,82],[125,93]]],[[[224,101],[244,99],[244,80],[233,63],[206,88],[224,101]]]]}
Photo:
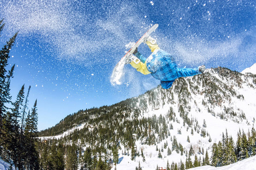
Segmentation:
{"type": "Polygon", "coordinates": [[[84,11],[74,12],[73,7],[65,0],[24,0],[9,2],[5,7],[0,4],[0,12],[9,32],[19,31],[19,36],[31,40],[37,36],[52,47],[49,50],[58,58],[84,63],[101,61],[94,53],[124,48],[129,42],[127,30],[131,25],[141,31],[143,20],[131,6],[121,5],[116,11],[106,11],[104,19],[90,16],[95,18],[89,22],[84,11]]]}

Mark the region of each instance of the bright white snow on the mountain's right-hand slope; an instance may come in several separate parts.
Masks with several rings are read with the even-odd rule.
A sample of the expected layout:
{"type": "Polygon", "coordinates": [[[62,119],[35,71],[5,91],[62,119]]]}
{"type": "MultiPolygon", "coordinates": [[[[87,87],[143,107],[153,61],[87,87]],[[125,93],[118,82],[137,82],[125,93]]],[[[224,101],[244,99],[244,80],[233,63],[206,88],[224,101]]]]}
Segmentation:
{"type": "MultiPolygon", "coordinates": [[[[188,105],[191,107],[188,111],[188,117],[191,118],[191,120],[194,119],[198,121],[200,129],[205,129],[210,134],[212,142],[208,142],[208,136],[205,138],[201,137],[200,133],[196,133],[196,131],[194,132],[194,135],[191,135],[191,128],[188,128],[187,125],[185,125],[184,127],[183,119],[179,115],[176,115],[176,121],[170,122],[174,127],[174,129],[170,130],[171,137],[168,137],[164,141],[160,141],[159,143],[157,143],[156,145],[158,146],[158,148],[161,148],[166,141],[168,142],[168,146],[171,147],[171,138],[173,139],[175,136],[177,138],[177,142],[181,143],[181,145],[185,147],[186,150],[189,150],[189,148],[192,146],[197,153],[199,151],[199,147],[204,147],[204,150],[208,150],[208,153],[211,156],[211,148],[213,143],[221,141],[222,133],[225,134],[226,130],[228,131],[228,134],[236,140],[239,129],[247,131],[254,126],[254,118],[256,117],[256,100],[254,99],[254,97],[256,96],[256,84],[253,83],[253,79],[251,79],[247,75],[240,75],[241,79],[236,79],[233,78],[234,75],[229,75],[228,70],[221,69],[217,71],[208,70],[208,73],[209,80],[216,82],[221,89],[224,89],[224,87],[227,86],[228,89],[233,90],[233,93],[236,94],[229,94],[230,96],[225,97],[221,94],[221,89],[217,90],[210,95],[220,95],[218,99],[220,101],[217,100],[215,104],[210,104],[208,102],[210,96],[207,96],[207,92],[205,94],[202,92],[204,88],[207,87],[203,87],[202,84],[196,82],[196,79],[200,78],[200,76],[197,76],[196,78],[185,78],[184,84],[188,87],[187,93],[190,94],[188,95],[188,97],[184,97],[185,99],[190,99],[187,101],[188,105]],[[228,76],[222,76],[223,74],[228,74],[228,76]],[[193,88],[193,85],[195,84],[193,83],[195,82],[196,85],[199,86],[197,87],[199,88],[199,91],[194,91],[195,89],[193,88]],[[238,82],[240,82],[241,84],[238,82]],[[242,96],[242,98],[238,96],[242,96]],[[203,100],[207,103],[206,105],[202,104],[203,100]],[[208,111],[207,107],[210,112],[208,111]],[[242,120],[238,117],[228,116],[222,119],[220,116],[217,116],[217,114],[225,114],[225,109],[228,110],[227,108],[232,109],[237,114],[245,114],[246,118],[242,120]],[[207,122],[207,128],[202,127],[204,120],[207,122]],[[177,133],[178,130],[181,131],[181,134],[177,133]],[[187,142],[188,136],[191,141],[190,143],[187,142]]],[[[205,82],[208,82],[208,80],[205,82]]],[[[181,82],[174,84],[174,88],[172,91],[175,91],[175,86],[183,86],[183,84],[181,84],[181,82]]],[[[211,88],[209,90],[212,91],[211,88]]],[[[177,91],[181,90],[177,88],[177,91]]],[[[229,93],[228,90],[225,90],[225,92],[223,92],[223,94],[226,93],[229,93]]],[[[174,112],[176,114],[179,114],[180,97],[179,95],[175,94],[175,92],[170,92],[169,94],[166,91],[162,91],[157,88],[151,93],[151,95],[142,96],[138,100],[137,106],[138,108],[141,108],[143,105],[141,101],[147,101],[147,109],[146,111],[143,111],[143,117],[152,117],[154,115],[159,117],[160,114],[162,114],[163,117],[166,117],[168,111],[170,110],[170,107],[174,109],[174,112]],[[154,94],[154,97],[152,97],[152,94],[154,94]],[[168,98],[172,96],[172,94],[174,94],[174,98],[172,98],[171,102],[168,102],[168,98]],[[164,95],[166,95],[167,97],[162,97],[164,95]],[[163,98],[163,100],[161,100],[161,98],[163,98]],[[158,102],[156,102],[156,104],[151,104],[150,100],[158,102]]],[[[214,99],[214,97],[212,99],[214,99]]],[[[143,162],[142,158],[136,158],[135,162],[133,162],[128,156],[122,156],[120,151],[119,157],[122,158],[122,161],[117,165],[117,169],[134,169],[136,166],[138,167],[139,162],[143,169],[156,169],[156,166],[166,167],[167,161],[169,162],[169,164],[171,164],[172,162],[179,163],[180,160],[182,160],[182,162],[185,162],[186,159],[185,155],[181,156],[180,154],[177,154],[176,151],[173,151],[172,154],[168,156],[167,149],[164,149],[164,152],[162,153],[163,158],[159,159],[158,151],[156,151],[156,146],[143,145],[141,141],[137,141],[136,145],[137,150],[140,151],[142,149],[144,155],[146,155],[146,162],[143,162]]],[[[197,157],[203,160],[204,155],[198,154],[197,157]]]]}

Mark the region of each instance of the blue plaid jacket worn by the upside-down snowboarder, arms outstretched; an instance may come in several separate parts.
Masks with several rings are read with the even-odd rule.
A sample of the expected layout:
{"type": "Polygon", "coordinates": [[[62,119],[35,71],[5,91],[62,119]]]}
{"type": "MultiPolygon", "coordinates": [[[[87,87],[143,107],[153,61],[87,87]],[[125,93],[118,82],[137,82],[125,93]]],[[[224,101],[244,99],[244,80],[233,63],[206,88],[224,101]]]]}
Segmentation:
{"type": "Polygon", "coordinates": [[[199,69],[180,69],[177,67],[171,54],[162,49],[155,50],[147,59],[139,52],[135,54],[141,61],[146,62],[148,71],[154,78],[161,80],[163,88],[170,88],[175,79],[181,76],[193,76],[200,74],[199,69]]]}

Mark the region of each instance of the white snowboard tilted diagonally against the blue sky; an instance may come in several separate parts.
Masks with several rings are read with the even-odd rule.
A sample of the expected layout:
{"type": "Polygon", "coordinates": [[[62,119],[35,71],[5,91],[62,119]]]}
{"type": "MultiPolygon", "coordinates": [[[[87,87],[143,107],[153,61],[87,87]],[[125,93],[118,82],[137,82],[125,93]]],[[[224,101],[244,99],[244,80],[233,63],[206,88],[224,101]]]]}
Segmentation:
{"type": "MultiPolygon", "coordinates": [[[[130,50],[125,54],[125,56],[123,56],[120,61],[117,63],[117,65],[115,65],[111,78],[110,78],[110,82],[115,85],[115,84],[121,84],[121,82],[119,82],[119,80],[121,79],[122,75],[123,75],[123,66],[125,66],[126,63],[126,59],[127,58],[131,58],[131,60],[133,60],[135,63],[139,63],[140,60],[139,58],[135,57],[133,55],[134,51],[136,48],[138,48],[139,45],[141,45],[142,42],[144,42],[145,39],[147,39],[148,36],[150,36],[150,34],[155,31],[155,29],[158,28],[158,24],[154,24],[150,29],[147,30],[146,33],[144,33],[144,35],[141,37],[141,39],[139,39],[131,48],[130,50]]],[[[155,42],[152,42],[152,44],[155,44],[155,42]]]]}

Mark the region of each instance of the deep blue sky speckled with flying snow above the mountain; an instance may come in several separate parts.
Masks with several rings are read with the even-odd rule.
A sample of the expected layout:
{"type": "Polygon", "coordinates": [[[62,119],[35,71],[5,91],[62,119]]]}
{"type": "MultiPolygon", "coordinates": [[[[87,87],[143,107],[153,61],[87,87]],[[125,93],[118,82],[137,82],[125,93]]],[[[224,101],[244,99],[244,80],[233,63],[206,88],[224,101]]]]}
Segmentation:
{"type": "MultiPolygon", "coordinates": [[[[80,109],[118,103],[158,86],[129,65],[120,86],[110,83],[125,45],[155,23],[152,36],[180,67],[250,67],[256,62],[255,14],[255,1],[3,0],[0,45],[19,31],[9,60],[16,65],[11,93],[15,100],[22,84],[31,86],[30,108],[38,99],[42,130],[80,109]]],[[[139,50],[150,54],[144,44],[139,50]]]]}

